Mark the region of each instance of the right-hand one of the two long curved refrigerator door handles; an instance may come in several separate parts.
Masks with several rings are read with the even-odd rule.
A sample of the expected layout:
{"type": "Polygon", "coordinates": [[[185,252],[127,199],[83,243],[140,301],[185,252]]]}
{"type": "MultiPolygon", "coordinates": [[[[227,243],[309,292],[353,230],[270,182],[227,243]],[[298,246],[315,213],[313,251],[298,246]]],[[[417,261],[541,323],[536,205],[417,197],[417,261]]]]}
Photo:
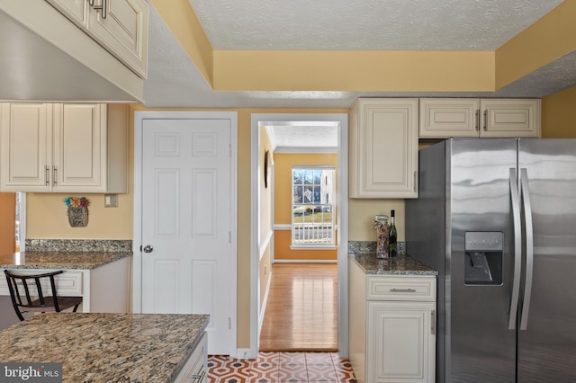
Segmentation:
{"type": "Polygon", "coordinates": [[[524,298],[522,300],[520,330],[526,330],[528,325],[528,312],[530,311],[530,297],[532,296],[532,276],[534,273],[534,228],[532,226],[532,205],[530,204],[528,172],[526,168],[520,169],[520,190],[526,227],[526,282],[524,286],[524,298]]]}

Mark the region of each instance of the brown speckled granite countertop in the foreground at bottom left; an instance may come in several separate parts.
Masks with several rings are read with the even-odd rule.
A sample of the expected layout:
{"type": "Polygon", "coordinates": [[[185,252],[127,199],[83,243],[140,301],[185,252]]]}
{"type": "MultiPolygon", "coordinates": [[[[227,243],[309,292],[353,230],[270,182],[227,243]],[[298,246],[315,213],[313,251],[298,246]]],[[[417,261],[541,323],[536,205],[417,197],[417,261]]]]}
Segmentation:
{"type": "Polygon", "coordinates": [[[0,332],[0,361],[62,362],[64,382],[171,382],[208,315],[48,313],[0,332]]]}

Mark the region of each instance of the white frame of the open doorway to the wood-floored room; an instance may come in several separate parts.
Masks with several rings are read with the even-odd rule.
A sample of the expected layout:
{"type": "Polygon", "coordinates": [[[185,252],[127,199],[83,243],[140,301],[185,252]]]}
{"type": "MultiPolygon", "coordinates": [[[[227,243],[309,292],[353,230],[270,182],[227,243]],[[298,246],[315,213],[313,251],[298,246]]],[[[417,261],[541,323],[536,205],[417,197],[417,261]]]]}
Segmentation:
{"type": "Polygon", "coordinates": [[[347,113],[252,113],[250,117],[250,350],[256,358],[259,334],[259,215],[258,188],[259,128],[290,122],[323,121],[338,126],[337,206],[338,206],[338,353],[348,356],[348,114],[347,113]]]}

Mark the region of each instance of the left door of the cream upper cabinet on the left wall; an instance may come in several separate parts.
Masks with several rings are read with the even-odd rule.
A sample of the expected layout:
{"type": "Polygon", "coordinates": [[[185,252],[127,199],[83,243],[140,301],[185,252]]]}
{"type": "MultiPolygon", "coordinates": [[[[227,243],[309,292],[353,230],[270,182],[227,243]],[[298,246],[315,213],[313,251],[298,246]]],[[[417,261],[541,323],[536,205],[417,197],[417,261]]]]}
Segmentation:
{"type": "Polygon", "coordinates": [[[0,190],[49,191],[52,108],[46,103],[3,103],[0,190]]]}

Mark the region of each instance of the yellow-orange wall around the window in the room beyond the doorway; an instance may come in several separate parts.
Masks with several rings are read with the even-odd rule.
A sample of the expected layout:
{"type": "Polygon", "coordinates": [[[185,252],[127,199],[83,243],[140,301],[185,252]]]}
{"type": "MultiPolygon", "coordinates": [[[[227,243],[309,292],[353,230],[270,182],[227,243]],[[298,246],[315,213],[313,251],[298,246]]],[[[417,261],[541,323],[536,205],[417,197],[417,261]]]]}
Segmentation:
{"type": "MultiPolygon", "coordinates": [[[[275,225],[292,224],[292,167],[294,165],[333,165],[336,167],[337,164],[337,154],[275,153],[275,225]]],[[[338,174],[336,174],[336,179],[338,179],[338,174]]],[[[338,259],[337,250],[292,250],[290,245],[292,245],[292,232],[275,229],[275,260],[336,261],[338,259]]]]}

